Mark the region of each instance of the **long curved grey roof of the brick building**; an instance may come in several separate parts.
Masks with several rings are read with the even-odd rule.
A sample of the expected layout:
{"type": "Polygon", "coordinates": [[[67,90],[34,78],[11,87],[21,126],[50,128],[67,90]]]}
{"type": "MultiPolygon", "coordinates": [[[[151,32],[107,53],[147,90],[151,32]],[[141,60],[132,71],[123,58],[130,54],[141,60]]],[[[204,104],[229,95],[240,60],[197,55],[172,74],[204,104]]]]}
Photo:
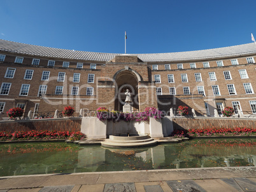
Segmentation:
{"type": "MultiPolygon", "coordinates": [[[[38,57],[53,57],[78,59],[89,61],[109,61],[120,53],[97,53],[90,51],[64,50],[60,48],[50,48],[38,45],[28,45],[0,39],[0,50],[11,53],[34,55],[38,57]]],[[[201,60],[208,58],[235,57],[238,55],[248,55],[256,53],[256,45],[248,43],[244,45],[227,46],[224,48],[214,48],[209,50],[183,51],[175,53],[148,53],[148,54],[127,54],[137,55],[144,62],[179,62],[183,60],[201,60]]]]}

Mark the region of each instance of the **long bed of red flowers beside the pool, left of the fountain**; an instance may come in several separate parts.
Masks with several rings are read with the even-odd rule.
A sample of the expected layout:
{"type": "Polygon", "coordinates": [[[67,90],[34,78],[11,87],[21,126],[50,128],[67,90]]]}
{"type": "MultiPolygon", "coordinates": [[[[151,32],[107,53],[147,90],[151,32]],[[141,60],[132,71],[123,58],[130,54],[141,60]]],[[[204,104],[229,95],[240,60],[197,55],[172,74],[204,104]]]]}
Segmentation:
{"type": "Polygon", "coordinates": [[[69,132],[69,131],[16,131],[10,132],[0,132],[0,141],[23,141],[23,140],[49,140],[49,139],[69,139],[69,137],[74,138],[84,138],[80,132],[69,132]],[[75,134],[75,135],[73,135],[75,134]],[[73,136],[72,136],[73,135],[73,136]],[[79,135],[79,136],[76,136],[79,135]]]}

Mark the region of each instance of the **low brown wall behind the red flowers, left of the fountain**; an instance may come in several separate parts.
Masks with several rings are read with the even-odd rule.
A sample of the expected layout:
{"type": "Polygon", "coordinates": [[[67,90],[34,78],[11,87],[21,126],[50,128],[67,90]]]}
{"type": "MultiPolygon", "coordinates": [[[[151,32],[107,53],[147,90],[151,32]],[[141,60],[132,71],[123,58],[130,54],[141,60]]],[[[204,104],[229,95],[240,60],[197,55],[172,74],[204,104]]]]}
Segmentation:
{"type": "Polygon", "coordinates": [[[81,118],[0,121],[0,131],[57,130],[80,132],[81,118]]]}

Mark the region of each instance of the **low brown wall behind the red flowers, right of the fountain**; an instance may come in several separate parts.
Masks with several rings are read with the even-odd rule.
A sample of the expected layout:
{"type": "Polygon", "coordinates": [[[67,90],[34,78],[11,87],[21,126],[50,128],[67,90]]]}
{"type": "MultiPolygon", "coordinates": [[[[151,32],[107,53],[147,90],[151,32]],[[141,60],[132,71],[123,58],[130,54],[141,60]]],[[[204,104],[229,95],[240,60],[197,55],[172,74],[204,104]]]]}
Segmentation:
{"type": "Polygon", "coordinates": [[[241,118],[185,118],[174,117],[173,129],[190,129],[190,128],[235,128],[246,127],[256,128],[256,120],[241,118]]]}

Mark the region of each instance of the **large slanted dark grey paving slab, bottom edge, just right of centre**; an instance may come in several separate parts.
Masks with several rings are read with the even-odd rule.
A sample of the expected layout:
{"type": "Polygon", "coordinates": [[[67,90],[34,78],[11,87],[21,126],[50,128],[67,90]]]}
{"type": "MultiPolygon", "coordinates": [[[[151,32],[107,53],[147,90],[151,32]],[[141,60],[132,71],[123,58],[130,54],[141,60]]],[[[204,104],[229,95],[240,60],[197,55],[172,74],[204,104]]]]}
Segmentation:
{"type": "Polygon", "coordinates": [[[207,192],[201,186],[196,184],[196,182],[192,180],[184,180],[184,181],[166,181],[169,187],[173,191],[182,191],[182,192],[207,192]]]}

